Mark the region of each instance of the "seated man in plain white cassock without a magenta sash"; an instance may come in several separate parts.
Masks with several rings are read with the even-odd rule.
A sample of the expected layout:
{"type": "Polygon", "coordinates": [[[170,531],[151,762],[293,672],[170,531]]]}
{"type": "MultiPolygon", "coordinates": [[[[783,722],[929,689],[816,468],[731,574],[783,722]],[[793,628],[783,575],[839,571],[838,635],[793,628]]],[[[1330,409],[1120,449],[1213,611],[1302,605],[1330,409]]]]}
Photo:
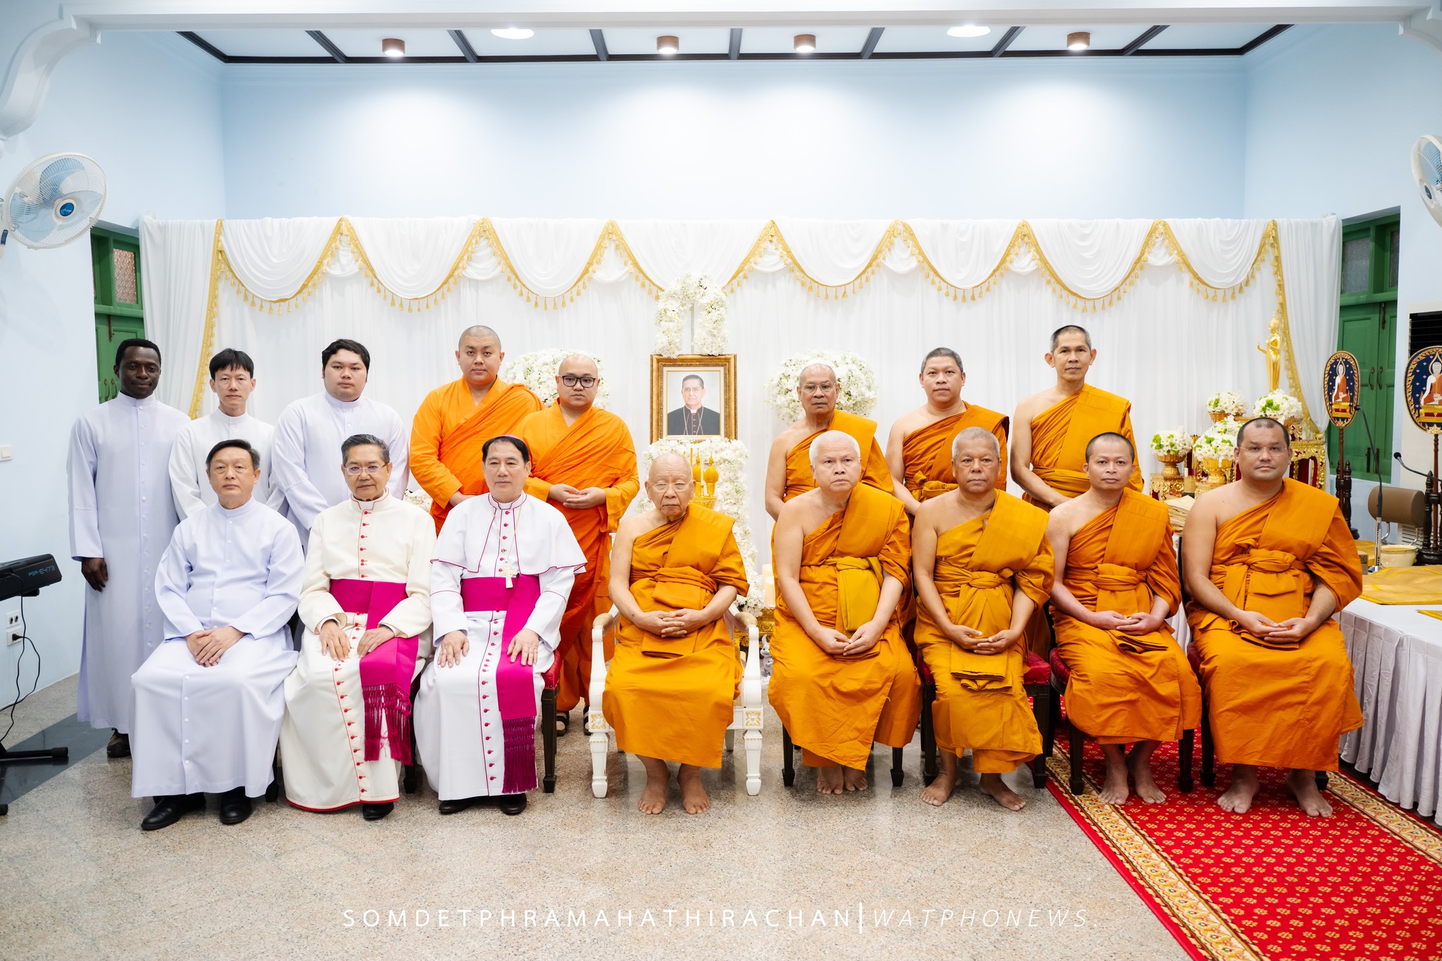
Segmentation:
{"type": "Polygon", "coordinates": [[[274,777],[296,667],[286,624],[306,558],[296,527],[252,497],[261,461],[245,441],[208,458],[216,503],[176,527],[156,573],[164,641],[131,677],[133,797],[154,795],[140,823],[174,824],[221,795],[221,823],[239,824],[274,777]]]}

